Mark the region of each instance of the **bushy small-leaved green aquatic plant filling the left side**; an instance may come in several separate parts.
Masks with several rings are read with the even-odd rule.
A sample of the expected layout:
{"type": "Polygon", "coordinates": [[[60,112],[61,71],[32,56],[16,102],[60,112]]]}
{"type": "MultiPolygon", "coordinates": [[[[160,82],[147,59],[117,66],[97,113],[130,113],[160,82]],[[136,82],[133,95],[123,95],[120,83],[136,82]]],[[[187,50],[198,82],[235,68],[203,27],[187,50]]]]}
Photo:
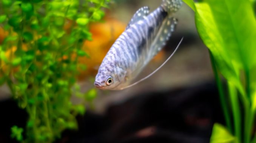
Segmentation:
{"type": "Polygon", "coordinates": [[[104,16],[109,0],[1,0],[0,28],[7,36],[0,44],[0,83],[28,113],[26,128],[13,126],[11,137],[21,142],[53,142],[64,129],[76,129],[84,100],[76,84],[84,40],[92,40],[88,24],[104,16]]]}

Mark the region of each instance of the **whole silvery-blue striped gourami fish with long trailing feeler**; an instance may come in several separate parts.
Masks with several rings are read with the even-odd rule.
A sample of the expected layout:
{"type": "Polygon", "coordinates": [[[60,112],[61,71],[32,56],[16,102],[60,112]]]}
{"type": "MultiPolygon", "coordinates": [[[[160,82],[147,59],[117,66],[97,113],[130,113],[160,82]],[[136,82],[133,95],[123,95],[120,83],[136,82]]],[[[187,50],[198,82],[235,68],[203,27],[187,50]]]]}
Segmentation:
{"type": "Polygon", "coordinates": [[[170,38],[177,24],[173,14],[181,4],[181,0],[163,0],[151,13],[147,6],[140,8],[103,59],[94,85],[105,90],[122,90],[162,67],[164,63],[149,76],[131,84],[170,38]]]}

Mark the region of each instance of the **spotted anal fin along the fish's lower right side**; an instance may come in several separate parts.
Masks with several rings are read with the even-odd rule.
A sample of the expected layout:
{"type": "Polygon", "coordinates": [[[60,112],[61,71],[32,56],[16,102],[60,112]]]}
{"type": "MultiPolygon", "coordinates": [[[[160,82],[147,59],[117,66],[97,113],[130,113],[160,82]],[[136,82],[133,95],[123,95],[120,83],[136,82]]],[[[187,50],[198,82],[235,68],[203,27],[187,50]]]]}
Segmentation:
{"type": "Polygon", "coordinates": [[[165,21],[163,21],[163,24],[156,35],[156,39],[154,39],[153,43],[151,44],[150,59],[152,59],[160,50],[162,50],[166,42],[170,39],[171,34],[174,32],[176,25],[177,19],[173,17],[168,17],[165,21]]]}

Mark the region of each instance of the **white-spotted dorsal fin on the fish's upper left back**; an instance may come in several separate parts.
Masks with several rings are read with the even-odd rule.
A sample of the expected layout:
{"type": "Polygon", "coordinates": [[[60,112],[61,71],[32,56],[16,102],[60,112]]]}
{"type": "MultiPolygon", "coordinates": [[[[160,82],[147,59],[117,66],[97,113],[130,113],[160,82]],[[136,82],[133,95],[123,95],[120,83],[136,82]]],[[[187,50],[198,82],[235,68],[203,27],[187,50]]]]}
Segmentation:
{"type": "Polygon", "coordinates": [[[128,23],[126,29],[130,27],[130,25],[143,20],[147,15],[149,14],[149,8],[148,6],[144,6],[136,11],[136,13],[133,15],[133,18],[131,18],[131,21],[128,23]]]}

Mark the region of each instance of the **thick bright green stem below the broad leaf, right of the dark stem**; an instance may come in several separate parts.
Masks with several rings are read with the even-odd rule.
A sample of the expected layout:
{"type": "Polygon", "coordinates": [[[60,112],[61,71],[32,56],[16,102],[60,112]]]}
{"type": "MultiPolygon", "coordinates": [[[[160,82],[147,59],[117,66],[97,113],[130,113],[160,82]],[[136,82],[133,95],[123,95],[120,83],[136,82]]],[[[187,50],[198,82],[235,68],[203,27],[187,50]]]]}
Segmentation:
{"type": "Polygon", "coordinates": [[[239,109],[240,106],[238,102],[236,88],[231,82],[228,82],[228,90],[234,117],[234,134],[236,135],[237,139],[241,141],[241,113],[239,109]]]}

